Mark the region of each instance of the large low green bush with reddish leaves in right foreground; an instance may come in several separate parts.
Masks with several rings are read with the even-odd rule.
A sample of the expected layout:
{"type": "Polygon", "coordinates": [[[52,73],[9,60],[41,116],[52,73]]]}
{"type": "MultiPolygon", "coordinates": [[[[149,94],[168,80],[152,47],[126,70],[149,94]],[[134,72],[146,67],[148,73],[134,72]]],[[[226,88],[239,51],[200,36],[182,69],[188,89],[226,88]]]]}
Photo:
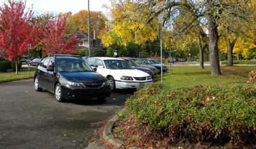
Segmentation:
{"type": "Polygon", "coordinates": [[[256,90],[196,86],[171,91],[162,85],[138,90],[127,110],[148,133],[170,140],[248,143],[256,141],[256,90]]]}

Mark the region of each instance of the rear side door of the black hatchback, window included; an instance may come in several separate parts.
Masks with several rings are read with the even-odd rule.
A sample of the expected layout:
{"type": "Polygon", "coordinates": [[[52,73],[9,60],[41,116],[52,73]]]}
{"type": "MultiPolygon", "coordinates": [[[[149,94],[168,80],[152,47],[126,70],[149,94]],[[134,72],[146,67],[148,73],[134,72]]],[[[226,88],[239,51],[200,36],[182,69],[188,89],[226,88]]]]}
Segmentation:
{"type": "Polygon", "coordinates": [[[47,70],[46,70],[46,67],[48,66],[48,63],[50,62],[50,58],[46,58],[44,60],[44,62],[42,63],[42,66],[40,66],[40,80],[39,80],[39,83],[40,83],[40,86],[43,88],[43,89],[47,89],[47,70]]]}

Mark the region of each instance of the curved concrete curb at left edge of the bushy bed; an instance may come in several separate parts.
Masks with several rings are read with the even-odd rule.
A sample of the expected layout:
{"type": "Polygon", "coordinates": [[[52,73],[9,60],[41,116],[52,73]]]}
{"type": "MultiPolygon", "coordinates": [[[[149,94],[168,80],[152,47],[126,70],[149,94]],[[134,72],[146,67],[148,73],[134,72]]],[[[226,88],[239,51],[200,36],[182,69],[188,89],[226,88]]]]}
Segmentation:
{"type": "Polygon", "coordinates": [[[113,118],[111,118],[108,123],[106,124],[106,126],[104,127],[104,131],[103,131],[103,139],[105,141],[107,141],[108,143],[110,143],[111,145],[114,145],[116,147],[120,147],[124,144],[124,141],[120,140],[120,139],[116,139],[113,134],[112,134],[112,127],[113,124],[116,122],[117,120],[117,116],[115,115],[113,118]]]}

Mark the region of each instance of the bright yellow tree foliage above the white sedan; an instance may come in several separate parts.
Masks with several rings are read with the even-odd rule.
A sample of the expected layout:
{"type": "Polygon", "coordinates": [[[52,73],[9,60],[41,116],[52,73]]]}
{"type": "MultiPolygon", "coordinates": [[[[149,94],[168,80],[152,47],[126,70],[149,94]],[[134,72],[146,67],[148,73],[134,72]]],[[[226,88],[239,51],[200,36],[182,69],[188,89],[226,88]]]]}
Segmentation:
{"type": "Polygon", "coordinates": [[[145,44],[146,41],[154,41],[157,38],[157,20],[154,19],[150,24],[144,24],[143,13],[134,11],[135,3],[129,1],[111,1],[111,29],[105,31],[102,36],[102,44],[110,46],[113,43],[127,46],[129,43],[138,45],[145,44]]]}

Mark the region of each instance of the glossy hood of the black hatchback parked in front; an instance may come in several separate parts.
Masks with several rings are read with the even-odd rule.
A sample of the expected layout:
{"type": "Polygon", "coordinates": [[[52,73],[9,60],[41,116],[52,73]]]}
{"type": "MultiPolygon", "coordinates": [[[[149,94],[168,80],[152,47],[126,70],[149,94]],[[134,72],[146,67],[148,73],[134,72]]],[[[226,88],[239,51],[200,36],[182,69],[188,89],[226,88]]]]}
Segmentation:
{"type": "Polygon", "coordinates": [[[95,72],[60,72],[60,75],[70,82],[101,83],[107,81],[104,76],[95,72]]]}

